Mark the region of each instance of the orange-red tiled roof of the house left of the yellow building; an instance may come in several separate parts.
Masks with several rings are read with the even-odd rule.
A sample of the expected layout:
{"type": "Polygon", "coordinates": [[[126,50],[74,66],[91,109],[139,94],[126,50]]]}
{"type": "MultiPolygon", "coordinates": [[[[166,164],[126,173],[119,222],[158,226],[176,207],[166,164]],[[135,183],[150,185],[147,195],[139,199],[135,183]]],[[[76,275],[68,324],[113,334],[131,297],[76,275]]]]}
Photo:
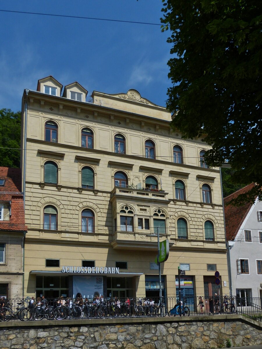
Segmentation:
{"type": "Polygon", "coordinates": [[[0,167],[0,179],[5,179],[5,185],[0,186],[0,203],[11,202],[9,221],[0,221],[1,230],[25,231],[24,202],[21,194],[21,169],[0,167]]]}

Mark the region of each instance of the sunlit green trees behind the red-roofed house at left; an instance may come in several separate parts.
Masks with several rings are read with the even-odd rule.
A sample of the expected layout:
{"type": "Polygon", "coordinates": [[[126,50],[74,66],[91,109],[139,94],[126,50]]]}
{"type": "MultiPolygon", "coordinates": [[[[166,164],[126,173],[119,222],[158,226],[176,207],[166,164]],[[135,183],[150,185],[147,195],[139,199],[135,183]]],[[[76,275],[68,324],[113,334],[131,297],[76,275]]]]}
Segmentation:
{"type": "Polygon", "coordinates": [[[20,167],[21,112],[0,110],[0,166],[20,167]],[[15,150],[14,148],[18,148],[15,150]]]}

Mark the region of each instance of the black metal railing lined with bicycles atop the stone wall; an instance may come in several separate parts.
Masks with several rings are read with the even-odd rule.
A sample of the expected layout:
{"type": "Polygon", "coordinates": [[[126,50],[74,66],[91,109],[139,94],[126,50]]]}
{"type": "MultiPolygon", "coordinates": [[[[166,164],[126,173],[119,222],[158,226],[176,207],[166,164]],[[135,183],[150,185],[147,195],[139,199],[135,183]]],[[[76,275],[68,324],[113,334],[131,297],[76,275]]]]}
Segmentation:
{"type": "Polygon", "coordinates": [[[243,314],[262,320],[262,298],[177,297],[0,299],[0,321],[243,314]]]}

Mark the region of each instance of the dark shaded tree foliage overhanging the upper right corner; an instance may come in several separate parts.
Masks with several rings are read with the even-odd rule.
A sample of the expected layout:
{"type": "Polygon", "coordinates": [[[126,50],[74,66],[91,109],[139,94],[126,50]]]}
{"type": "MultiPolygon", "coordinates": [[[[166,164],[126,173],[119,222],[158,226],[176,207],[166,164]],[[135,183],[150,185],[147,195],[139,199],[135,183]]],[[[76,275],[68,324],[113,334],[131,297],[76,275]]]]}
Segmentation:
{"type": "Polygon", "coordinates": [[[162,1],[172,127],[211,145],[206,163],[228,161],[233,183],[257,184],[239,200],[262,200],[262,1],[162,1]]]}

